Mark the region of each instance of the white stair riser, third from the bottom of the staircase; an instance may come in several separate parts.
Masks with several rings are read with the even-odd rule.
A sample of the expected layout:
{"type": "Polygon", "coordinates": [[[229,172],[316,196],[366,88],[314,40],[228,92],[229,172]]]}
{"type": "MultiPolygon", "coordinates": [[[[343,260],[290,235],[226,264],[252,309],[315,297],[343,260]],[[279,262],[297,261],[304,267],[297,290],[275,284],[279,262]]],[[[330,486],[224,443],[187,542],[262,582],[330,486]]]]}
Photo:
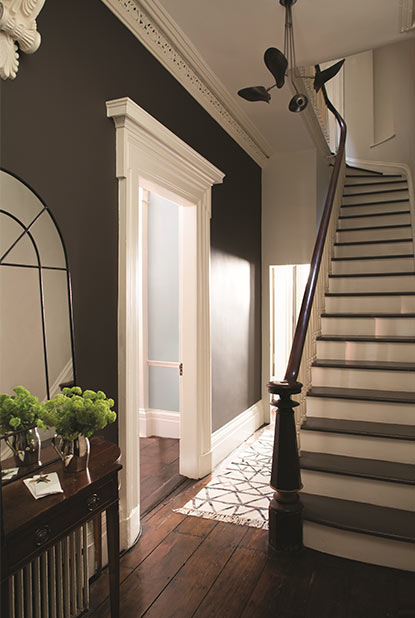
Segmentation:
{"type": "Polygon", "coordinates": [[[301,450],[312,453],[328,453],[379,459],[400,463],[415,463],[415,441],[396,440],[394,438],[376,438],[353,434],[330,433],[326,431],[300,432],[301,450]]]}

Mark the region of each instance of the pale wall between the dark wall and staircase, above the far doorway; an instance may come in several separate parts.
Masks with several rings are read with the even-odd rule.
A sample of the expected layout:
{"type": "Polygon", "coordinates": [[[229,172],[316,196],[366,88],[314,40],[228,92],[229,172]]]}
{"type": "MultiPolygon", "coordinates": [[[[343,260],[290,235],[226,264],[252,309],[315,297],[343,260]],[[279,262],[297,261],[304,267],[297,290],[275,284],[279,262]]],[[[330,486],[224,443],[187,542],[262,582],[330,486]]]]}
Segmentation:
{"type": "MultiPolygon", "coordinates": [[[[269,267],[309,264],[329,178],[328,161],[313,149],[277,153],[262,172],[262,376],[269,399],[269,267]]],[[[267,408],[265,408],[267,415],[267,408]]]]}

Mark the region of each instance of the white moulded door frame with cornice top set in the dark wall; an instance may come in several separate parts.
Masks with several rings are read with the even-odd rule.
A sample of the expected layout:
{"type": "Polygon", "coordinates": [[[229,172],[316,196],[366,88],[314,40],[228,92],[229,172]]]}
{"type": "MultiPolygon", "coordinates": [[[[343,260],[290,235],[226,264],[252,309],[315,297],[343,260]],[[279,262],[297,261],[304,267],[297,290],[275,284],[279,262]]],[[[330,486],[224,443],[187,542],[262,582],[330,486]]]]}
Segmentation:
{"type": "Polygon", "coordinates": [[[183,401],[181,472],[200,478],[211,471],[210,216],[211,187],[224,174],[128,97],[107,102],[116,127],[119,199],[118,433],[122,451],[121,546],[140,532],[139,399],[147,359],[140,316],[140,179],[162,187],[183,209],[182,362],[191,388],[183,401]],[[187,398],[187,400],[186,400],[187,398]]]}

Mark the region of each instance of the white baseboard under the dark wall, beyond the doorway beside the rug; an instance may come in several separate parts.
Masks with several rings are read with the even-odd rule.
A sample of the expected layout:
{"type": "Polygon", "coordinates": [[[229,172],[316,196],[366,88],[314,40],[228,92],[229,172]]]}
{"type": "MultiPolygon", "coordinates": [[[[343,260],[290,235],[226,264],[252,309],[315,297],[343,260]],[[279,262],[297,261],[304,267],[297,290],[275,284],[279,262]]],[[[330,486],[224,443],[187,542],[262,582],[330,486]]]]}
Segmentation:
{"type": "Polygon", "coordinates": [[[260,400],[215,431],[212,434],[212,467],[217,466],[263,424],[264,406],[260,400]]]}

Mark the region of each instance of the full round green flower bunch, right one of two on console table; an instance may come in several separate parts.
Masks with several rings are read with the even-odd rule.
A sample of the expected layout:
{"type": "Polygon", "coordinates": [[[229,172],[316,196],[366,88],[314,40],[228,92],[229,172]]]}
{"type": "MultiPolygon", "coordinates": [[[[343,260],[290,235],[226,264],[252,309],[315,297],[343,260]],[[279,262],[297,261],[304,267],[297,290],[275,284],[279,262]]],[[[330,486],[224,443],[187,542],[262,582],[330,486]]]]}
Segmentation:
{"type": "Polygon", "coordinates": [[[46,427],[54,427],[64,438],[73,440],[79,434],[89,438],[115,421],[113,405],[114,400],[107,399],[103,391],[82,392],[79,386],[73,386],[42,404],[40,417],[46,427]]]}

